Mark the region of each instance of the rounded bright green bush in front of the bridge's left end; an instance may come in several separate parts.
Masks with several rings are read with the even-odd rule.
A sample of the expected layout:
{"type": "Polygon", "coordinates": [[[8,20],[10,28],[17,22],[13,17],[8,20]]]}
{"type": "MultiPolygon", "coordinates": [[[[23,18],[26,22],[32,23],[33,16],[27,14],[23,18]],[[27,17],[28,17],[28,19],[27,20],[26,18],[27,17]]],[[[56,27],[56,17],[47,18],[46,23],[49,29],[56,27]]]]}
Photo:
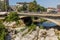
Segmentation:
{"type": "Polygon", "coordinates": [[[9,15],[6,16],[5,18],[6,21],[18,21],[19,16],[17,15],[17,12],[10,12],[9,15]]]}

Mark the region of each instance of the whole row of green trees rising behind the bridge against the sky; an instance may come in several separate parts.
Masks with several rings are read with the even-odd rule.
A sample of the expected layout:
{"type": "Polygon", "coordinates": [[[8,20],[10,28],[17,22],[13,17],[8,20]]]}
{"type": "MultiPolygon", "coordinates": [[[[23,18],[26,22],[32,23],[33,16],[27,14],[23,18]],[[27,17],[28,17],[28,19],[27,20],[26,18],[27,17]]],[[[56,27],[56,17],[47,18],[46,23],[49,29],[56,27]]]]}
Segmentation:
{"type": "Polygon", "coordinates": [[[37,4],[36,0],[34,0],[33,2],[30,2],[29,5],[27,5],[25,2],[23,6],[18,7],[17,10],[18,12],[27,11],[27,10],[29,12],[40,12],[40,11],[46,11],[47,9],[37,4]]]}

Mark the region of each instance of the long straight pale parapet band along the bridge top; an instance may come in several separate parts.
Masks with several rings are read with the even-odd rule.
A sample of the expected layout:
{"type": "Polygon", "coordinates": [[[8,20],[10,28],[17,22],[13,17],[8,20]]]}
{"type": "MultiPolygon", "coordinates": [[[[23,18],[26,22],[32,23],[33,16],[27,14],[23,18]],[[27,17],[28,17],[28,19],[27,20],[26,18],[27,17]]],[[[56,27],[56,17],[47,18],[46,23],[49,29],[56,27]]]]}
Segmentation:
{"type": "Polygon", "coordinates": [[[37,13],[18,13],[19,16],[44,16],[44,17],[60,17],[60,14],[37,14],[37,13]]]}

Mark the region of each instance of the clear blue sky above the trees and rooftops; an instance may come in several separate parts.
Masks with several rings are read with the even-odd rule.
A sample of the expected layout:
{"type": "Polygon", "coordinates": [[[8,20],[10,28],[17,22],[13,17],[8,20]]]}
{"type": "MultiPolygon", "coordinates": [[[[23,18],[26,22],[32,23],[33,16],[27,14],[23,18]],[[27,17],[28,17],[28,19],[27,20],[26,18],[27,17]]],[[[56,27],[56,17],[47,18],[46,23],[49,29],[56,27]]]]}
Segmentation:
{"type": "MultiPolygon", "coordinates": [[[[10,5],[16,5],[16,2],[32,2],[33,0],[9,0],[10,5]]],[[[36,0],[37,3],[46,8],[57,7],[60,4],[60,0],[36,0]]]]}

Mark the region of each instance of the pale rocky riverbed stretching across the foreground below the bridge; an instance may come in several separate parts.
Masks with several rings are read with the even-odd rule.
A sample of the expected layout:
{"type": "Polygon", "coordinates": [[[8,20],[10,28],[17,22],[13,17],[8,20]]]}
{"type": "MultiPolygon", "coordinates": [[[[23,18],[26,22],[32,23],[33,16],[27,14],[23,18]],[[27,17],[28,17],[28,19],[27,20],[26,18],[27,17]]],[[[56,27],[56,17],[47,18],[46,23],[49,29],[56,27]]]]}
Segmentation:
{"type": "MultiPolygon", "coordinates": [[[[26,31],[26,30],[25,30],[26,31]]],[[[39,29],[22,36],[23,32],[12,34],[11,40],[60,40],[60,33],[57,29],[39,29]]]]}

